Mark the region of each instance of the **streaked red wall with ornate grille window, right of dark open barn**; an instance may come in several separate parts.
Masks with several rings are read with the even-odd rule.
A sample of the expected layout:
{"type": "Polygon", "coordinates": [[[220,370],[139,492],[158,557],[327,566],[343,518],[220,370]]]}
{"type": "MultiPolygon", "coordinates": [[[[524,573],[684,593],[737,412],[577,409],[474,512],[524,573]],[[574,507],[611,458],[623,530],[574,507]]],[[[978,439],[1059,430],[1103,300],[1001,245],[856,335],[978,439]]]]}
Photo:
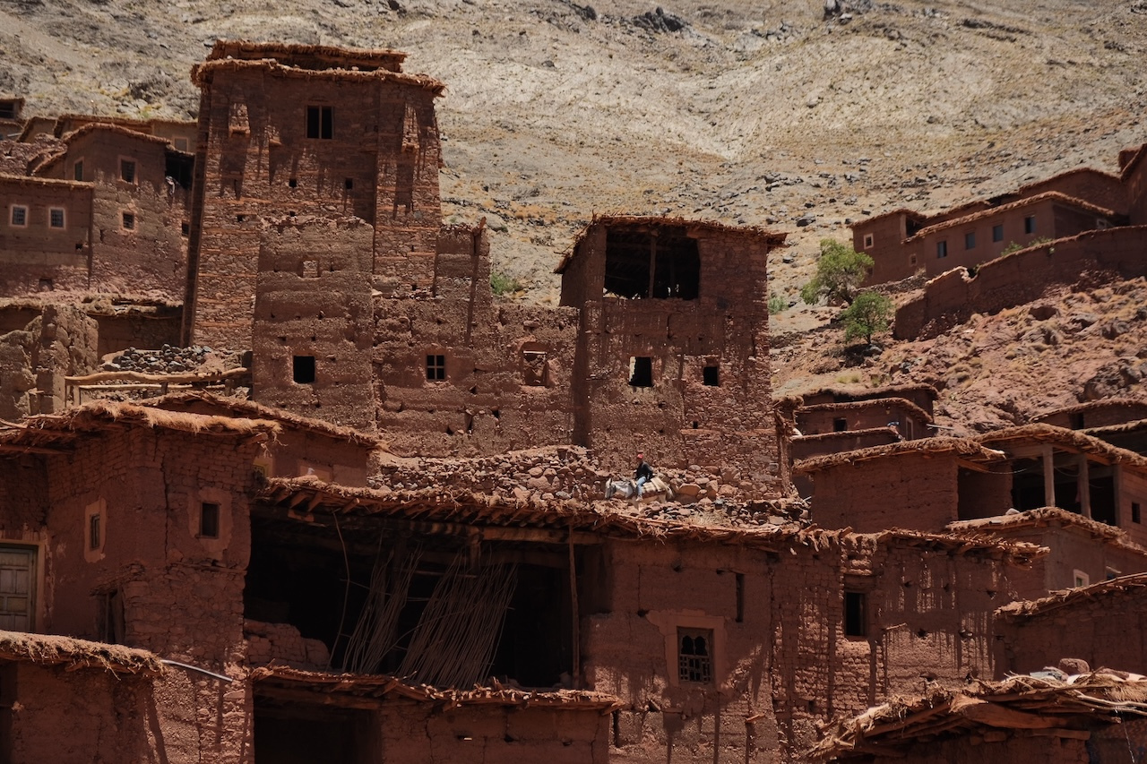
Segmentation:
{"type": "Polygon", "coordinates": [[[608,544],[609,598],[582,639],[588,686],[625,703],[618,761],[788,761],[817,722],[919,692],[922,673],[991,676],[1000,562],[873,537],[791,549],[608,544]],[[844,633],[845,590],[866,598],[865,637],[844,633]],[[678,627],[713,630],[712,685],[678,680],[678,627]]]}

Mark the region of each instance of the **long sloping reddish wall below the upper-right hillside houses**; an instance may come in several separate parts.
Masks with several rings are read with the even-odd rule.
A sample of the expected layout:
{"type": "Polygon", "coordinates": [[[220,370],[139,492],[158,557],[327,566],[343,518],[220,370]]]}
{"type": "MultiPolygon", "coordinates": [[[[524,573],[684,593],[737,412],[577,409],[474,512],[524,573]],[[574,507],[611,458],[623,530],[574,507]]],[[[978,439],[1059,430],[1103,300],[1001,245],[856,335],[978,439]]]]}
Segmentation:
{"type": "MultiPolygon", "coordinates": [[[[924,287],[924,294],[896,312],[898,340],[935,337],[973,313],[996,313],[1038,299],[1054,283],[1076,283],[1089,272],[1124,279],[1147,275],[1147,226],[1090,231],[986,263],[974,278],[963,268],[949,271],[924,287]]],[[[1097,274],[1098,275],[1098,274],[1097,274]]]]}

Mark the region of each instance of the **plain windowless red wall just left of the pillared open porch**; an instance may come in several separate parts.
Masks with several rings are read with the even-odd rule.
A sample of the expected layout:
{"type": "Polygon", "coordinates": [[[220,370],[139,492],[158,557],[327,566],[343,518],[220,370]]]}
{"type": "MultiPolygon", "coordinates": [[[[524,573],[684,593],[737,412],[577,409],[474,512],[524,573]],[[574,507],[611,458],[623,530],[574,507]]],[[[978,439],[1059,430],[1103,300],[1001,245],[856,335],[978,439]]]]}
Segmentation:
{"type": "Polygon", "coordinates": [[[812,475],[810,515],[821,528],[936,531],[958,517],[952,454],[902,453],[826,467],[812,475]]]}

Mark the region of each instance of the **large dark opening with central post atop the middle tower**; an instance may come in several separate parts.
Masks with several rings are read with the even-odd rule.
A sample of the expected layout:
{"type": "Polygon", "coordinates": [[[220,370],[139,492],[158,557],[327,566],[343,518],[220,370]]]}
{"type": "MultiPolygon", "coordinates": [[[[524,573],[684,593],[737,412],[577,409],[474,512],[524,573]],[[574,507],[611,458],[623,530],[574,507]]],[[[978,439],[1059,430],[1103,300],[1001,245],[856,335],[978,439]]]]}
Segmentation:
{"type": "Polygon", "coordinates": [[[606,290],[626,298],[696,299],[701,255],[684,226],[606,233],[606,290]]]}

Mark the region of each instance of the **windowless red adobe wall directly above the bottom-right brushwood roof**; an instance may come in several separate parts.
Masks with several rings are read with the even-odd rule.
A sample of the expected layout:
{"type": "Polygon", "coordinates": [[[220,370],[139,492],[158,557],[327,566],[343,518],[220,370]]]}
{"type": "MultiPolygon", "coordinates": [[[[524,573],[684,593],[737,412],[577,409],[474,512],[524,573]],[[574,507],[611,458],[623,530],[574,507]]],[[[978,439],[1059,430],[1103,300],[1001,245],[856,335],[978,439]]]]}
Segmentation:
{"type": "Polygon", "coordinates": [[[1028,673],[1060,658],[1147,673],[1147,594],[1142,587],[1076,598],[1045,613],[998,613],[996,675],[1028,673]]]}

